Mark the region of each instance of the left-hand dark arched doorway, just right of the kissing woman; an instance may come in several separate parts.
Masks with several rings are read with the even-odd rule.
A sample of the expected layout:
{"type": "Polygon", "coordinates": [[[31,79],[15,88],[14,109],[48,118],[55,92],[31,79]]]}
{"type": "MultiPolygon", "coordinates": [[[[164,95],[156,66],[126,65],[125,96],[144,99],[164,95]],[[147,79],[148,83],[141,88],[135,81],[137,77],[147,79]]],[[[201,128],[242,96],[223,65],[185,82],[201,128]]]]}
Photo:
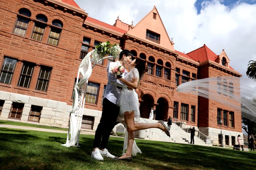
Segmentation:
{"type": "Polygon", "coordinates": [[[154,104],[154,98],[150,94],[145,94],[142,100],[143,101],[140,103],[140,117],[148,119],[150,108],[153,107],[154,104]]]}

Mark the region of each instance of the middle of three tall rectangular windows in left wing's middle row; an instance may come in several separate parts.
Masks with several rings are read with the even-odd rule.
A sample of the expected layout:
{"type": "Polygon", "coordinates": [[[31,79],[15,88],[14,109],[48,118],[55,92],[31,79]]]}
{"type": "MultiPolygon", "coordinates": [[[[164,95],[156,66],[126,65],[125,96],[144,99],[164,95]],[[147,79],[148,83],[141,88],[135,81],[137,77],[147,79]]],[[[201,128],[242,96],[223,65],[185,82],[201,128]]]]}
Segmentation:
{"type": "Polygon", "coordinates": [[[34,70],[34,63],[24,62],[20,73],[18,86],[28,88],[34,70]]]}

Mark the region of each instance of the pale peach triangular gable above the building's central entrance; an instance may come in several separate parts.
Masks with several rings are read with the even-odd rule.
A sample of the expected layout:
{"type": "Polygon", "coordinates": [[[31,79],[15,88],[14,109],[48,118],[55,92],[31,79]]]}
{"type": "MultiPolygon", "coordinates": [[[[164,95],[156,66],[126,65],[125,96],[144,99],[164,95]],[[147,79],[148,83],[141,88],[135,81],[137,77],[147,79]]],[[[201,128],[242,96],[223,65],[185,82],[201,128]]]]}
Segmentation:
{"type": "Polygon", "coordinates": [[[139,23],[134,26],[134,28],[129,29],[127,34],[138,37],[145,42],[149,42],[151,44],[175,51],[173,46],[174,43],[170,41],[165,26],[155,6],[143,19],[140,20],[139,23]],[[147,31],[160,36],[159,42],[151,38],[146,38],[147,31]]]}

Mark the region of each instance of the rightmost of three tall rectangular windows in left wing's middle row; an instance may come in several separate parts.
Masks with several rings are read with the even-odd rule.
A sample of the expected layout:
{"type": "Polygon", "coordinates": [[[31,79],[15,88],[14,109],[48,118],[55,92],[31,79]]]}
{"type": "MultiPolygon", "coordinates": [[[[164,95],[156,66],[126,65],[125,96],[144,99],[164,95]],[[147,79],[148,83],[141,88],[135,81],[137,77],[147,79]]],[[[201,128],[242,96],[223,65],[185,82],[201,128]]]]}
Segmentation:
{"type": "Polygon", "coordinates": [[[51,72],[52,72],[51,67],[41,66],[38,79],[37,79],[36,90],[47,91],[51,72]]]}

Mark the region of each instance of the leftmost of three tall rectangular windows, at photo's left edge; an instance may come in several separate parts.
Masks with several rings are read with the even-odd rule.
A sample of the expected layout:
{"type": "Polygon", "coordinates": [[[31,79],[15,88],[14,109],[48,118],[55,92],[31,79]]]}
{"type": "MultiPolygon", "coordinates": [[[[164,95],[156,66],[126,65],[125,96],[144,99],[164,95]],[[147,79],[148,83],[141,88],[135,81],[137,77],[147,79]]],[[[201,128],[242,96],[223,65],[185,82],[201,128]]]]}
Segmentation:
{"type": "Polygon", "coordinates": [[[15,70],[17,60],[5,58],[1,69],[0,83],[10,84],[15,70]]]}

